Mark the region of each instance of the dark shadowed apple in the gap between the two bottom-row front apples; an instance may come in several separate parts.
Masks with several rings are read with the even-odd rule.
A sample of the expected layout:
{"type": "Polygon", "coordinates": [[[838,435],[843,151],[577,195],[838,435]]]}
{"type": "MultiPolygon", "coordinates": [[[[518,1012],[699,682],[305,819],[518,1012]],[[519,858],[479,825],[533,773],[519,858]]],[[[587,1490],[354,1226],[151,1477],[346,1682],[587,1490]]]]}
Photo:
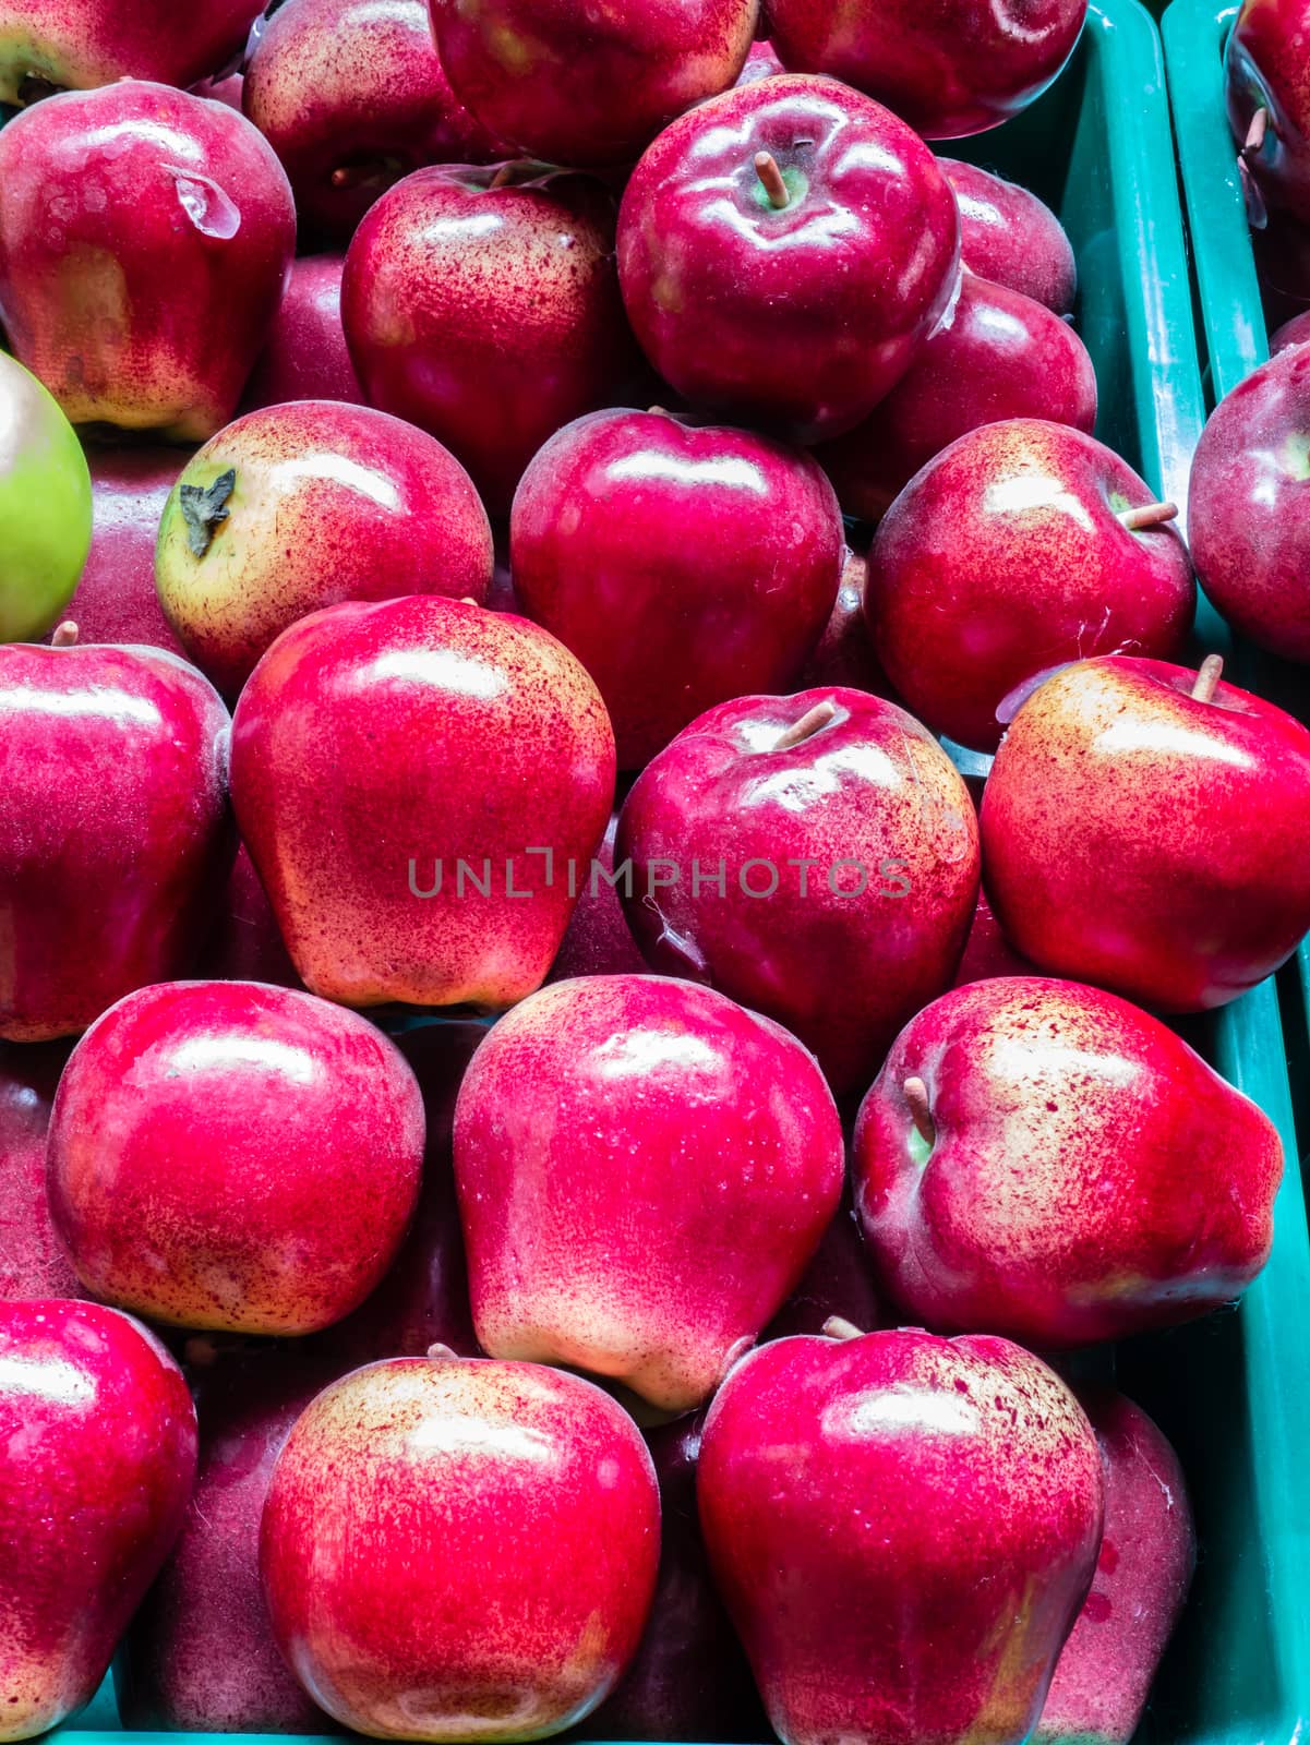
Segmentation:
{"type": "Polygon", "coordinates": [[[645,1433],[659,1478],[659,1581],[640,1647],[579,1729],[591,1740],[762,1740],[768,1721],[696,1513],[703,1415],[645,1433]]]}

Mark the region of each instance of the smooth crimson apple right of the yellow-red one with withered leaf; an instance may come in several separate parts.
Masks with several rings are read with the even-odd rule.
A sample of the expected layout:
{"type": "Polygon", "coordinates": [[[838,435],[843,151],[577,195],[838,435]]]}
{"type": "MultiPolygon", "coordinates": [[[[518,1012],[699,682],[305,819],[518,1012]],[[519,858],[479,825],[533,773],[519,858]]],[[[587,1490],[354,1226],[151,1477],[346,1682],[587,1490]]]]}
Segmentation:
{"type": "Polygon", "coordinates": [[[621,770],[713,703],[790,684],[844,553],[809,455],[665,412],[593,412],[558,431],[509,518],[522,607],[597,681],[621,770]]]}

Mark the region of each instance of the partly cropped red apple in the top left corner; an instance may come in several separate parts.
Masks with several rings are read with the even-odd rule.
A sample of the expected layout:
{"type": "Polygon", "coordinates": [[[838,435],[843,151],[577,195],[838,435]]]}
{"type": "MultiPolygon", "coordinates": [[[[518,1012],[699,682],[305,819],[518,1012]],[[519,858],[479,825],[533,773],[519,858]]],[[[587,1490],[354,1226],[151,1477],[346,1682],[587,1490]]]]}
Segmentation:
{"type": "Polygon", "coordinates": [[[190,86],[241,49],[260,0],[5,0],[0,5],[0,103],[21,103],[24,79],[58,89],[157,79],[190,86]]]}

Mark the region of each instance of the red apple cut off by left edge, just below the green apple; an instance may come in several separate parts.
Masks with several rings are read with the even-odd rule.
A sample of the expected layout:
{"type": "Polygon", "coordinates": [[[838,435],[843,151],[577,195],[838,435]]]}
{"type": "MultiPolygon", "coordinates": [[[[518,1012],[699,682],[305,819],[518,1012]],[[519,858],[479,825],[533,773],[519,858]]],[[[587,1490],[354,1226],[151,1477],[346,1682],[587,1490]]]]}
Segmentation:
{"type": "Polygon", "coordinates": [[[229,733],[162,649],[0,647],[0,1037],[72,1037],[190,968],[232,855],[229,733]]]}

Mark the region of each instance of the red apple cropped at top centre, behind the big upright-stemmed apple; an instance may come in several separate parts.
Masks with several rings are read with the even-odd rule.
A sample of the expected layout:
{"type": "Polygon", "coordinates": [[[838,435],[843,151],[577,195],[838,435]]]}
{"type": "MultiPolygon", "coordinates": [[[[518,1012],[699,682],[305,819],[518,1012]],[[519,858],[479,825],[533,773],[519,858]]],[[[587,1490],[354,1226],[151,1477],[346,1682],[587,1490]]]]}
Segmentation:
{"type": "Polygon", "coordinates": [[[631,164],[741,72],[757,0],[431,0],[441,65],[492,133],[551,164],[631,164]]]}

